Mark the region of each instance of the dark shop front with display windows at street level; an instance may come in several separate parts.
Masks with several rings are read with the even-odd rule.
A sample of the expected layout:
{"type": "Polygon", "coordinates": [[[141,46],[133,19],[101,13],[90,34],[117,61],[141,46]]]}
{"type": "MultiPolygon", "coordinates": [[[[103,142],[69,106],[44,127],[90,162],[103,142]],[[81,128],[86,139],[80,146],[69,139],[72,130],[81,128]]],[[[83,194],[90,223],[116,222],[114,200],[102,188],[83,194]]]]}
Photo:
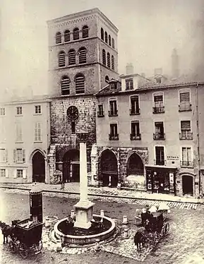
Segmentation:
{"type": "Polygon", "coordinates": [[[147,190],[176,196],[176,167],[145,165],[147,190]]]}

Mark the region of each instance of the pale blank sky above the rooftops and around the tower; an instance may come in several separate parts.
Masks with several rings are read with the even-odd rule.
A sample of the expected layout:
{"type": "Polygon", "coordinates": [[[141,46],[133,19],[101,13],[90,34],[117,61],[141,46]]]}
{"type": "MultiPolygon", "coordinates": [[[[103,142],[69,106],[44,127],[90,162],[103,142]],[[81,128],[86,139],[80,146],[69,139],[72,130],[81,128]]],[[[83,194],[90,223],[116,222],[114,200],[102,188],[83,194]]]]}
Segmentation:
{"type": "Polygon", "coordinates": [[[120,74],[171,74],[174,48],[181,73],[203,64],[203,0],[1,0],[1,88],[46,93],[47,20],[96,7],[119,29],[120,74]]]}

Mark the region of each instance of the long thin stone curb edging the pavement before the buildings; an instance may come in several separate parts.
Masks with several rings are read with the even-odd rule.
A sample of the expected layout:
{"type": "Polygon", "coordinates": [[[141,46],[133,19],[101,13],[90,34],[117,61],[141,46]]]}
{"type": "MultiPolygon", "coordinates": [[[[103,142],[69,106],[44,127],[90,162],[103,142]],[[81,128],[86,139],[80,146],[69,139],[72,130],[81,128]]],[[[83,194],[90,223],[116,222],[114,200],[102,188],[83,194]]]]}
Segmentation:
{"type": "MultiPolygon", "coordinates": [[[[9,187],[9,186],[0,186],[0,188],[7,188],[7,189],[16,189],[22,191],[30,191],[31,188],[22,188],[22,187],[9,187]]],[[[78,192],[71,192],[71,191],[52,191],[52,190],[42,190],[44,193],[64,193],[64,194],[75,194],[80,195],[78,192]]],[[[88,193],[88,196],[99,196],[99,197],[111,197],[111,198],[124,198],[124,199],[135,199],[135,200],[155,200],[158,202],[169,202],[169,203],[195,203],[198,205],[204,205],[204,202],[199,201],[182,201],[182,200],[167,200],[167,199],[157,199],[157,198],[148,198],[148,197],[134,197],[134,196],[115,196],[113,194],[102,194],[102,193],[88,193]]]]}

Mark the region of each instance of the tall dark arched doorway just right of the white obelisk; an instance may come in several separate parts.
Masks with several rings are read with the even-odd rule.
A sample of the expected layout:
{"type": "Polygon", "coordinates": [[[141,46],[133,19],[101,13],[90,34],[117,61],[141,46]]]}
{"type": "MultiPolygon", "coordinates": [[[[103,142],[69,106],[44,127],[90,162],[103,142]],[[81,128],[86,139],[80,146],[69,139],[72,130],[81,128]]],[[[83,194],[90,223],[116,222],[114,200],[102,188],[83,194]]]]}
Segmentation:
{"type": "Polygon", "coordinates": [[[114,152],[104,150],[101,155],[100,166],[103,186],[109,186],[109,182],[111,182],[111,186],[116,187],[118,184],[118,167],[114,152]]]}

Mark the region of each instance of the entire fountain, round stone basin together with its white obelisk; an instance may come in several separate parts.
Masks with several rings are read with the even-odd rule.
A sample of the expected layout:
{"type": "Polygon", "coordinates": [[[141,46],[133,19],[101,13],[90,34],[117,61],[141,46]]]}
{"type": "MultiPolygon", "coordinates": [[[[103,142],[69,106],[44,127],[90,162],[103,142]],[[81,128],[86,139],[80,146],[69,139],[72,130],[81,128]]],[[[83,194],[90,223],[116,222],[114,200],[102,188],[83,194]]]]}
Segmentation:
{"type": "Polygon", "coordinates": [[[88,200],[88,171],[86,140],[88,133],[80,133],[80,200],[74,205],[76,221],[70,229],[62,229],[66,218],[59,220],[54,225],[54,236],[64,245],[78,246],[95,244],[96,241],[109,241],[116,235],[116,224],[109,217],[93,214],[95,203],[88,200]],[[102,222],[102,228],[94,229],[91,220],[102,222]]]}

